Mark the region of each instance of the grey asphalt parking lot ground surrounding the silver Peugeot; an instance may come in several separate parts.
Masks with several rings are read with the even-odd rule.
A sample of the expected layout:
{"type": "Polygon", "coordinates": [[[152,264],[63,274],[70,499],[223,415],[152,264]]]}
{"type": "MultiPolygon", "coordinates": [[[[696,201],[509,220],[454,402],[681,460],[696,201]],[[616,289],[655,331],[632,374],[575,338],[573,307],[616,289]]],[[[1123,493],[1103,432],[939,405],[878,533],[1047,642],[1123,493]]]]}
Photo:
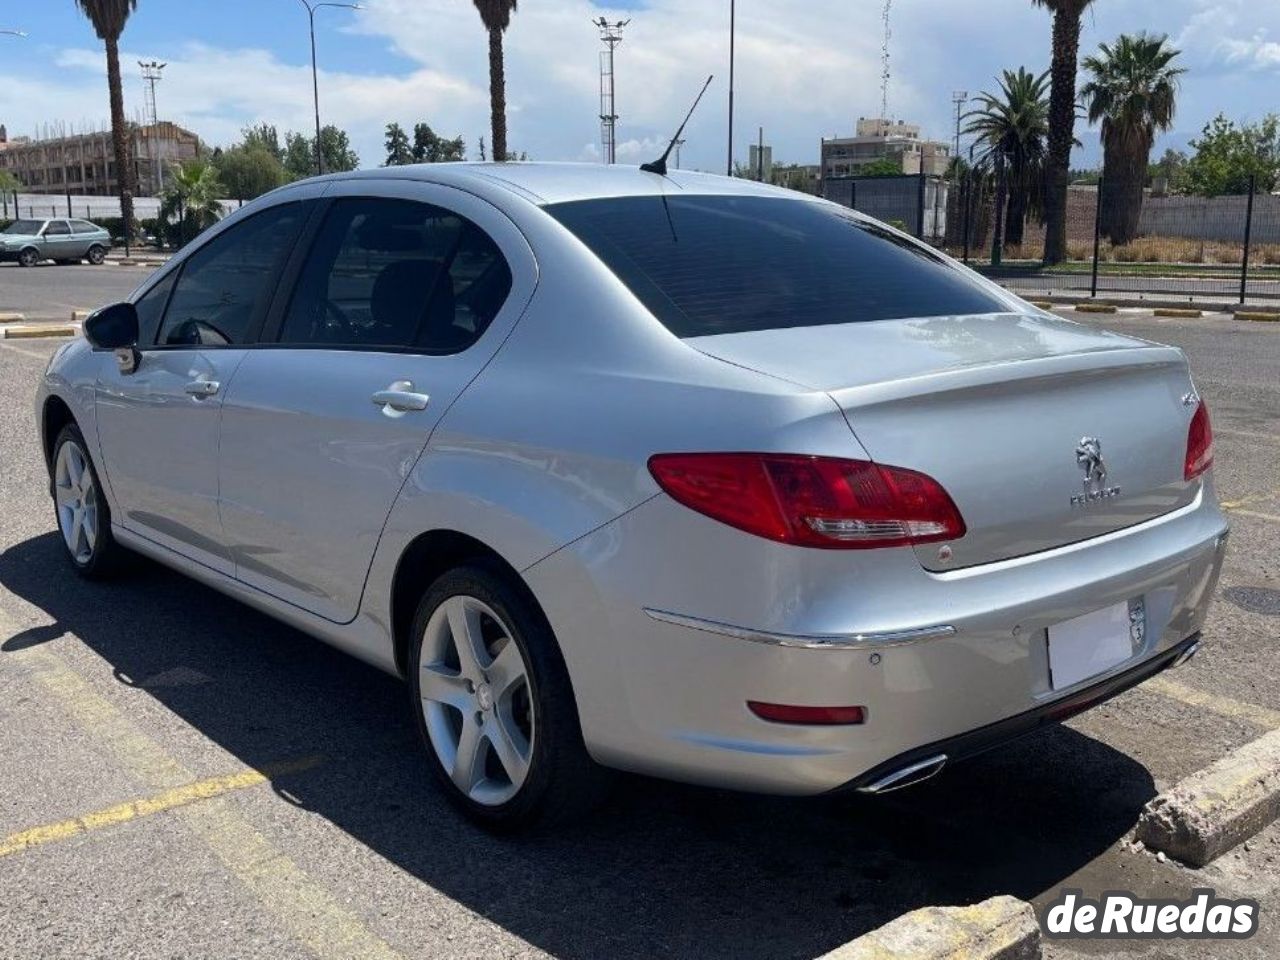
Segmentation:
{"type": "Polygon", "coordinates": [[[1280,325],[1089,323],[1183,347],[1213,413],[1233,541],[1192,664],[916,790],[626,778],[531,840],[434,792],[397,681],[154,564],[77,580],[31,412],[58,342],[0,342],[0,837],[49,827],[0,841],[0,956],[801,959],[919,906],[1062,887],[1213,887],[1256,897],[1261,931],[1051,957],[1280,956],[1280,827],[1202,870],[1126,842],[1165,786],[1280,727],[1280,325]]]}

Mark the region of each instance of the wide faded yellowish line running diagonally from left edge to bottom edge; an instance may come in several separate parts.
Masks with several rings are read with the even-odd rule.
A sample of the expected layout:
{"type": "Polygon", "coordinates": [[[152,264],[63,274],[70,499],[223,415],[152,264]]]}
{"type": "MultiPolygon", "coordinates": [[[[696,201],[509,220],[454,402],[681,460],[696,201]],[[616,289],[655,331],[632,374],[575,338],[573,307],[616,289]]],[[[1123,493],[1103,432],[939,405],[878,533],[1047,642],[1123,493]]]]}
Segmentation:
{"type": "MultiPolygon", "coordinates": [[[[17,632],[18,626],[0,609],[0,641],[17,632]]],[[[29,671],[92,741],[147,787],[175,791],[196,780],[47,646],[5,658],[29,671]]],[[[227,796],[178,808],[175,815],[321,960],[402,960],[387,941],[255,829],[227,796]]]]}

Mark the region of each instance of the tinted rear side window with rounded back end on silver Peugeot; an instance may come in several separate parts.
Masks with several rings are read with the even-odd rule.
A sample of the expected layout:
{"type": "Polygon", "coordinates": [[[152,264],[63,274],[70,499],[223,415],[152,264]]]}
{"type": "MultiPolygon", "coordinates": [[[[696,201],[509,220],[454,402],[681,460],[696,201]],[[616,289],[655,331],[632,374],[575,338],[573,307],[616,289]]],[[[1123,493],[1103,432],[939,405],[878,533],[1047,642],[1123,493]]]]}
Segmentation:
{"type": "Polygon", "coordinates": [[[457,353],[511,292],[511,270],[474,223],[410,200],[334,202],[316,237],[280,342],[457,353]]]}

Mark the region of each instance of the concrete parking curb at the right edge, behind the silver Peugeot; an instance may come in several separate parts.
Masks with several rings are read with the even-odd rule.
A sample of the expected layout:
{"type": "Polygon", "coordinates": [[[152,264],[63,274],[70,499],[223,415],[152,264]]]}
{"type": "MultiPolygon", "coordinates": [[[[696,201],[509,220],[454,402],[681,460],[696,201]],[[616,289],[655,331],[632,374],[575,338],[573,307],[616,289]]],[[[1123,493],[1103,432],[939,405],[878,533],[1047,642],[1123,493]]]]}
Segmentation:
{"type": "Polygon", "coordinates": [[[1280,817],[1280,730],[1193,773],[1147,804],[1137,838],[1203,867],[1280,817]]]}

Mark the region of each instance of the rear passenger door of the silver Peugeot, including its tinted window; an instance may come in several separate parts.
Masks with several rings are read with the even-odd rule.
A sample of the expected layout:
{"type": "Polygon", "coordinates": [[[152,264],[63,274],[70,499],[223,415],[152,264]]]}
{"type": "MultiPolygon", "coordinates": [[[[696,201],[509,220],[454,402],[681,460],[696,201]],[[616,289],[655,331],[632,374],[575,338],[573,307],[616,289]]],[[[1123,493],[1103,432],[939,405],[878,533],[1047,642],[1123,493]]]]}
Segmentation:
{"type": "Polygon", "coordinates": [[[406,180],[338,183],[297,283],[223,410],[236,575],[346,623],[401,486],[536,283],[493,206],[406,180]]]}

